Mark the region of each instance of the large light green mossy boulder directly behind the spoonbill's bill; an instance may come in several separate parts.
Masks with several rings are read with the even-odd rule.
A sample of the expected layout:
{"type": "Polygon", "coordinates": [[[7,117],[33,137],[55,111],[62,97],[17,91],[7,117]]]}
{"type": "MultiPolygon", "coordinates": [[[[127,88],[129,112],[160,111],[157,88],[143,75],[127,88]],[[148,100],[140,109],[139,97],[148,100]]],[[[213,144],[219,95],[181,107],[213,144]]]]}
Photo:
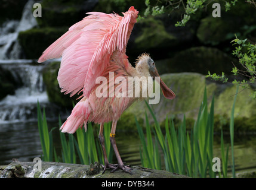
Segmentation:
{"type": "MultiPolygon", "coordinates": [[[[150,105],[153,108],[156,118],[158,118],[158,122],[160,124],[164,122],[166,116],[168,116],[168,118],[176,117],[177,119],[183,119],[183,114],[186,114],[187,118],[195,119],[201,105],[203,91],[206,85],[205,76],[198,73],[183,72],[178,74],[164,74],[161,75],[161,78],[165,84],[174,91],[176,97],[174,100],[165,99],[161,91],[160,102],[156,105],[150,105]]],[[[214,89],[215,86],[211,85],[211,88],[208,88],[208,93],[212,94],[214,89]]],[[[210,101],[211,96],[208,98],[210,101]]],[[[125,110],[122,116],[129,115],[129,117],[131,117],[134,115],[138,120],[143,119],[144,121],[145,112],[147,112],[149,121],[152,124],[153,118],[145,102],[134,103],[125,110]]],[[[132,122],[134,122],[134,119],[130,120],[129,125],[135,125],[135,122],[132,122]]]]}

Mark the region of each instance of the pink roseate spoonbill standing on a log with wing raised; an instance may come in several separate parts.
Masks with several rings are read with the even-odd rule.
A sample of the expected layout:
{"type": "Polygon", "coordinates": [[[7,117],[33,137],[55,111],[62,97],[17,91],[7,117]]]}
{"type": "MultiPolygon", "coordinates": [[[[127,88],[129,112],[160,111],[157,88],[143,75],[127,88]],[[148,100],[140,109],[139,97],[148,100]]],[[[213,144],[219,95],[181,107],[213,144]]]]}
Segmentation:
{"type": "MultiPolygon", "coordinates": [[[[104,156],[104,170],[106,168],[122,169],[131,173],[131,168],[125,166],[116,147],[116,124],[121,114],[140,97],[97,97],[95,91],[99,84],[97,77],[103,76],[110,83],[109,72],[115,77],[159,77],[155,63],[149,55],[143,53],[138,57],[135,68],[129,64],[125,54],[127,42],[138,11],[134,7],[124,14],[104,14],[103,12],[88,12],[82,21],[74,24],[63,36],[49,46],[38,62],[47,59],[60,58],[58,83],[61,92],[73,96],[82,91],[81,100],[73,108],[71,115],[61,126],[62,132],[74,133],[76,129],[87,122],[100,124],[98,138],[104,156]],[[118,164],[110,164],[104,147],[103,124],[112,121],[110,141],[115,151],[118,164]]],[[[141,85],[141,84],[140,84],[141,85]]],[[[174,99],[175,94],[160,80],[162,92],[167,99],[174,99]]],[[[118,87],[115,85],[114,88],[118,87]]],[[[110,93],[110,88],[106,88],[110,93]]],[[[115,90],[115,89],[112,89],[115,90]]]]}

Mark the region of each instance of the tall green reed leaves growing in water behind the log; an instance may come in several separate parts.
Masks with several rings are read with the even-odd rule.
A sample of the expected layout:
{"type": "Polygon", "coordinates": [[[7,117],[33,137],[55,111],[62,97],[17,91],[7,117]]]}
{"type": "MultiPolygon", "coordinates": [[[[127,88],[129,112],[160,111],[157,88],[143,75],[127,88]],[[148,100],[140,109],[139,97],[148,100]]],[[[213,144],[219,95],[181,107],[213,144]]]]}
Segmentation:
{"type": "MultiPolygon", "coordinates": [[[[238,90],[237,90],[238,92],[238,90]]],[[[237,94],[237,93],[236,93],[237,94]]],[[[233,151],[234,141],[234,110],[236,95],[230,117],[230,141],[232,147],[232,174],[235,178],[235,160],[233,151]]],[[[198,118],[193,129],[187,131],[186,117],[184,116],[181,124],[175,128],[174,122],[166,117],[165,135],[156,119],[153,109],[146,103],[147,109],[154,120],[154,128],[149,124],[149,118],[145,114],[146,138],[143,128],[137,125],[138,134],[141,140],[142,149],[140,150],[141,164],[144,167],[162,169],[161,152],[164,154],[165,170],[191,176],[193,178],[216,178],[217,173],[212,171],[213,159],[213,140],[214,140],[214,96],[212,97],[211,107],[208,112],[206,89],[203,101],[198,112],[198,118]]],[[[59,126],[62,125],[59,119],[59,126]]],[[[79,128],[75,134],[63,134],[61,131],[61,157],[57,155],[53,146],[53,129],[48,130],[45,110],[41,112],[38,102],[38,129],[42,146],[42,160],[45,162],[66,162],[76,163],[79,159],[81,164],[94,162],[104,163],[98,138],[95,138],[92,124],[87,126],[87,132],[79,128]],[[53,159],[54,157],[54,159],[53,159]],[[60,159],[61,158],[61,159],[60,159]]],[[[113,148],[109,141],[111,123],[104,124],[104,138],[106,153],[109,162],[112,162],[113,148]]],[[[98,132],[98,130],[97,130],[98,132]]],[[[229,146],[224,146],[223,132],[221,131],[221,172],[218,176],[227,178],[227,163],[229,146]]]]}

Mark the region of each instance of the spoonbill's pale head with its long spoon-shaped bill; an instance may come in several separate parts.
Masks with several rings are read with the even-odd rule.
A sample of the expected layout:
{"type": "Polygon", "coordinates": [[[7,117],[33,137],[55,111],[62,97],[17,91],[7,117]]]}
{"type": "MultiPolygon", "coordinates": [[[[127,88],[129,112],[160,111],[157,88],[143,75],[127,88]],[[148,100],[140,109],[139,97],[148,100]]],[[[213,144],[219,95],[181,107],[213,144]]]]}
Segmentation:
{"type": "Polygon", "coordinates": [[[175,94],[174,92],[166,86],[164,81],[162,81],[161,77],[158,74],[158,70],[156,69],[155,62],[153,59],[150,58],[149,54],[143,53],[140,56],[138,56],[137,62],[136,62],[136,69],[140,70],[140,72],[145,76],[146,72],[150,74],[154,79],[155,77],[159,77],[160,79],[160,87],[162,89],[162,92],[166,99],[174,99],[175,94]]]}

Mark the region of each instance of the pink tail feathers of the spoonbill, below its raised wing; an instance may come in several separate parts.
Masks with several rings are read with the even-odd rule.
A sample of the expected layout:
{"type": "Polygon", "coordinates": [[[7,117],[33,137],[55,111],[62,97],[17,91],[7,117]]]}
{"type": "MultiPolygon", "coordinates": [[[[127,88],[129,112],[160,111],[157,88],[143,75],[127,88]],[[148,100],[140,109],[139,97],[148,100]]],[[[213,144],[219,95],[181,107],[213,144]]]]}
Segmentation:
{"type": "Polygon", "coordinates": [[[73,108],[71,115],[66,122],[60,127],[61,132],[74,133],[79,127],[84,125],[87,130],[87,121],[91,113],[91,107],[88,99],[84,97],[73,108]]]}

